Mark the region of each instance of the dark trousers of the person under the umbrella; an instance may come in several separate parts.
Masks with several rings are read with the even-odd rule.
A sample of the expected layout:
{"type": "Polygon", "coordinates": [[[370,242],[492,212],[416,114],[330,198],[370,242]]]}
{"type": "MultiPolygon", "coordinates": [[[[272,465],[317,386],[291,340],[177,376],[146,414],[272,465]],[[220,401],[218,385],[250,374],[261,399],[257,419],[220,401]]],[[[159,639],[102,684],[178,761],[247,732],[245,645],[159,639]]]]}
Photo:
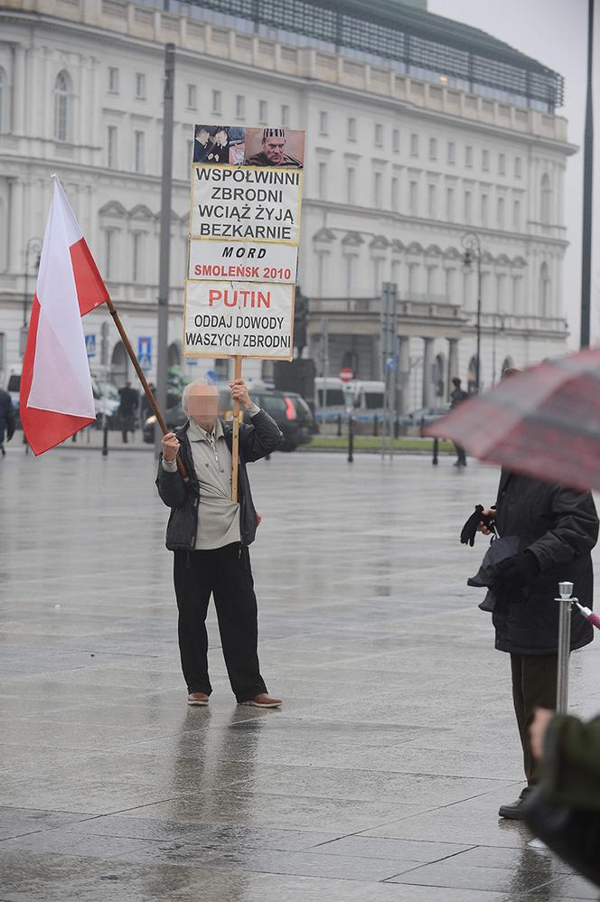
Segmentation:
{"type": "MultiPolygon", "coordinates": [[[[537,777],[528,730],[536,708],[554,710],[557,707],[557,670],[557,654],[511,654],[512,702],[519,725],[528,788],[535,785],[537,777]]],[[[526,793],[524,790],[522,794],[526,793]]]]}

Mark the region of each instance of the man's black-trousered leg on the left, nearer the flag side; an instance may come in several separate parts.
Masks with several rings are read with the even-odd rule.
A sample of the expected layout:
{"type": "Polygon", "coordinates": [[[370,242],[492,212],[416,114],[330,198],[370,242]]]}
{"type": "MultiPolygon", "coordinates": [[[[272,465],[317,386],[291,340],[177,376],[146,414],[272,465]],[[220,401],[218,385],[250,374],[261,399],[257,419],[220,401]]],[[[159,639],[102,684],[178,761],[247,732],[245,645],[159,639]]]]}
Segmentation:
{"type": "Polygon", "coordinates": [[[179,653],[188,692],[210,695],[206,614],[212,591],[213,551],[175,551],[173,581],[179,610],[179,653]]]}

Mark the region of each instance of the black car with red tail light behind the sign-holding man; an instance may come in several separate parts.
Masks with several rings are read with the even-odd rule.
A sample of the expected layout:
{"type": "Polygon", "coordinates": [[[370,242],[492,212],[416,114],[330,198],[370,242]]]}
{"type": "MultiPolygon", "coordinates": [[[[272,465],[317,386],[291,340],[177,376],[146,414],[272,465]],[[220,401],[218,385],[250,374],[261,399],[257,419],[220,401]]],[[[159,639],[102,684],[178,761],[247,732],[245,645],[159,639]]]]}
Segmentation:
{"type": "MultiPolygon", "coordinates": [[[[317,431],[316,423],[305,399],[295,392],[277,390],[251,390],[252,400],[258,407],[266,410],[277,426],[284,434],[284,441],[279,446],[280,451],[294,451],[298,445],[307,445],[312,441],[317,431]]],[[[230,419],[233,415],[233,405],[230,390],[219,389],[219,415],[223,419],[230,419]]],[[[174,429],[182,426],[186,417],[181,404],[167,409],[164,421],[167,428],[174,429]]],[[[244,414],[244,422],[251,422],[247,413],[244,414]]],[[[151,445],[155,440],[155,417],[149,417],[144,424],[144,441],[151,445]]]]}

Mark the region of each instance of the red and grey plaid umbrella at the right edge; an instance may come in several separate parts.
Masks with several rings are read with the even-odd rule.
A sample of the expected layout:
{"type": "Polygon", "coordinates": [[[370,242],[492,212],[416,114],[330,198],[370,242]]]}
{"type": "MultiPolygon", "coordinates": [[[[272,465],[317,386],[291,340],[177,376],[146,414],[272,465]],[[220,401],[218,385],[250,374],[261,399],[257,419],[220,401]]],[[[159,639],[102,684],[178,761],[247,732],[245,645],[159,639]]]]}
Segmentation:
{"type": "Polygon", "coordinates": [[[548,483],[600,491],[600,350],[540,363],[465,400],[423,435],[548,483]]]}

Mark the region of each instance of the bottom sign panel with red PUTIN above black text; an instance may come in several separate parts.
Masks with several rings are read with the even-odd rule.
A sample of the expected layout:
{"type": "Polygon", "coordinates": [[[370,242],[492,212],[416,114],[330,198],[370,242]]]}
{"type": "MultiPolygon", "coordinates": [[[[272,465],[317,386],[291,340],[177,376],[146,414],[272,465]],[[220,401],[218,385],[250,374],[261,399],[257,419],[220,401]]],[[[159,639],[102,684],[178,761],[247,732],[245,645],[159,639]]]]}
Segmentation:
{"type": "Polygon", "coordinates": [[[187,282],[185,357],[292,360],[293,285],[187,282]]]}

